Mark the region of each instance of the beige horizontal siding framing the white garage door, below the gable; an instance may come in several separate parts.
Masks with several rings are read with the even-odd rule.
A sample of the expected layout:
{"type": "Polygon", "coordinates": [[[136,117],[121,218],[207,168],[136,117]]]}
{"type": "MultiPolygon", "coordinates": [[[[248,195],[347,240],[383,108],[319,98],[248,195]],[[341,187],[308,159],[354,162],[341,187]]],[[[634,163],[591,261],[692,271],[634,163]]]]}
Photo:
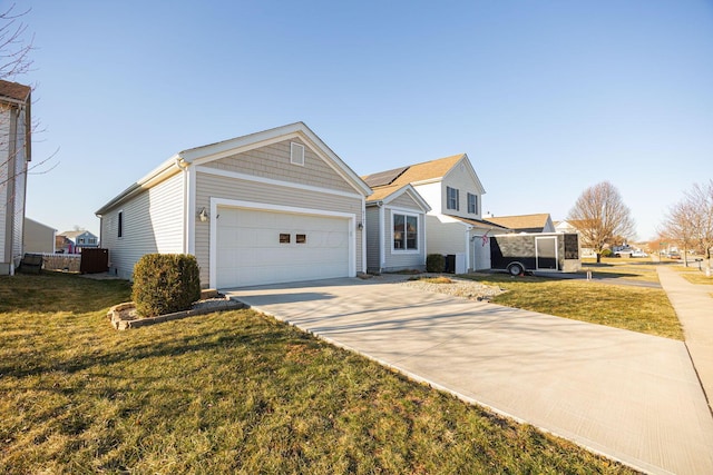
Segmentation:
{"type": "MultiPolygon", "coordinates": [[[[299,167],[293,167],[299,169],[299,167]]],[[[263,184],[247,179],[232,178],[229,176],[213,175],[206,171],[196,171],[196,209],[203,207],[211,209],[211,198],[223,198],[237,201],[251,201],[276,206],[313,209],[315,211],[335,211],[353,214],[355,222],[363,221],[363,200],[339,194],[330,194],[329,190],[319,192],[302,190],[291,187],[289,184],[277,186],[263,184]]],[[[216,218],[219,219],[219,216],[216,218]]],[[[364,271],[362,260],[362,236],[364,232],[350,229],[355,232],[356,271],[364,271]]],[[[201,281],[208,283],[211,269],[211,226],[209,222],[195,224],[195,249],[198,265],[201,266],[201,281]]]]}

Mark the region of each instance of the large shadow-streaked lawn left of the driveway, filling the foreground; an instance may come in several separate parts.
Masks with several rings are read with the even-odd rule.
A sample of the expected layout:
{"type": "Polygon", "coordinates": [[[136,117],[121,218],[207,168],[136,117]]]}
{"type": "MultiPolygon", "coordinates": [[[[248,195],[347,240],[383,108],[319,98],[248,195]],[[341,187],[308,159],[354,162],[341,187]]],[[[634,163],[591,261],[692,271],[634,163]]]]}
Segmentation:
{"type": "Polygon", "coordinates": [[[0,472],[633,473],[251,310],[117,331],[128,298],[0,277],[0,472]]]}

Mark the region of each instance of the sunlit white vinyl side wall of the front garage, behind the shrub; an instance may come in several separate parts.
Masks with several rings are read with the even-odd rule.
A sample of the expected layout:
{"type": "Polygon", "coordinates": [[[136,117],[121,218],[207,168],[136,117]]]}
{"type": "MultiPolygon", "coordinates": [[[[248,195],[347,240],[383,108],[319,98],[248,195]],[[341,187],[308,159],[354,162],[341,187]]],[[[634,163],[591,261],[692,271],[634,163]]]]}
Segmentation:
{"type": "Polygon", "coordinates": [[[110,271],[131,278],[145,254],[184,253],[183,174],[162,181],[101,217],[101,246],[109,249],[110,271]],[[118,214],[123,236],[118,237],[118,214]]]}

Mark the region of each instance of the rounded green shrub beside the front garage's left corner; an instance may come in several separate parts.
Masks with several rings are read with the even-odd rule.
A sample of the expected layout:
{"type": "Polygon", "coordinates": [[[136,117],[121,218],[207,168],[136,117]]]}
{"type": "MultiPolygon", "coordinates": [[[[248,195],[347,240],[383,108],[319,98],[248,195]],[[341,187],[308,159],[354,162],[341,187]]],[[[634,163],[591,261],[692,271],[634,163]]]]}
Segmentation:
{"type": "Polygon", "coordinates": [[[131,300],[144,317],[187,310],[201,299],[198,261],[185,254],[147,254],[134,266],[131,300]]]}

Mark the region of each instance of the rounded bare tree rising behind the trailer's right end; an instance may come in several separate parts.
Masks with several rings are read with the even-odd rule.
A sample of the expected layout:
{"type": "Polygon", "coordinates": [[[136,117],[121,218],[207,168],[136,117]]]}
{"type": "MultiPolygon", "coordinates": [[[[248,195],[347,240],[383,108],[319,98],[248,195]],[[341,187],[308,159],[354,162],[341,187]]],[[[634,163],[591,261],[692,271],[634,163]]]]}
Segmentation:
{"type": "Polygon", "coordinates": [[[577,224],[582,245],[592,248],[602,261],[602,251],[617,237],[634,236],[634,220],[618,192],[608,181],[584,190],[567,215],[568,221],[577,224]]]}

